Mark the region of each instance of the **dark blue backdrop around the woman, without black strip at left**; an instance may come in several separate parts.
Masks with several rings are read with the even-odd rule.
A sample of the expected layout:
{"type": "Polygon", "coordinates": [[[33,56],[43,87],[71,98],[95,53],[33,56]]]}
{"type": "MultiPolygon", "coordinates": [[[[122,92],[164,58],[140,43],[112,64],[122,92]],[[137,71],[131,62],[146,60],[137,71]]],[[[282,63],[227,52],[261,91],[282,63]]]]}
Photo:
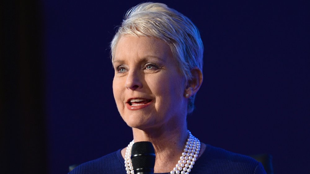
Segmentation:
{"type": "MultiPolygon", "coordinates": [[[[50,174],[132,140],[113,98],[109,42],[140,2],[44,1],[50,174]]],[[[278,174],[310,173],[307,6],[157,2],[188,16],[205,46],[204,81],[188,117],[193,135],[236,153],[272,154],[278,174]]]]}

